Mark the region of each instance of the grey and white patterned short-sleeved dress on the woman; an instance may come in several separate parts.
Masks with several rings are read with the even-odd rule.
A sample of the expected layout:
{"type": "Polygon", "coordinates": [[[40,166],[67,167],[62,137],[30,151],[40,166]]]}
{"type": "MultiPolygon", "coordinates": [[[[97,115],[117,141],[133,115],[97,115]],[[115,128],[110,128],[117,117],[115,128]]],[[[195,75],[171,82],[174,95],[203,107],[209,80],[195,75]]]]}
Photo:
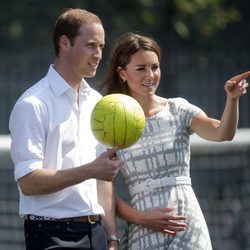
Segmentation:
{"type": "Polygon", "coordinates": [[[192,118],[203,112],[183,98],[171,98],[166,106],[146,121],[142,137],[130,148],[118,151],[124,160],[121,174],[131,196],[130,204],[138,210],[173,207],[173,214],[187,217],[187,228],[176,236],[154,232],[127,223],[126,250],[211,250],[208,228],[199,203],[189,184],[162,185],[134,192],[134,187],[166,177],[190,176],[190,141],[192,118]]]}

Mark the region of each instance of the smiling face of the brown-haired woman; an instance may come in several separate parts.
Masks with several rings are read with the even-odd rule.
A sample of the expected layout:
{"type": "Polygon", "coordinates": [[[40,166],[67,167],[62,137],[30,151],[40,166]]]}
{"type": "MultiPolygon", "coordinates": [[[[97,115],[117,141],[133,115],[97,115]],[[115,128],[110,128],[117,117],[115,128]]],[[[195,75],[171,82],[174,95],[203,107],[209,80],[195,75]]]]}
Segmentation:
{"type": "Polygon", "coordinates": [[[159,85],[161,70],[155,52],[141,50],[131,56],[129,64],[119,70],[133,97],[153,95],[159,85]]]}

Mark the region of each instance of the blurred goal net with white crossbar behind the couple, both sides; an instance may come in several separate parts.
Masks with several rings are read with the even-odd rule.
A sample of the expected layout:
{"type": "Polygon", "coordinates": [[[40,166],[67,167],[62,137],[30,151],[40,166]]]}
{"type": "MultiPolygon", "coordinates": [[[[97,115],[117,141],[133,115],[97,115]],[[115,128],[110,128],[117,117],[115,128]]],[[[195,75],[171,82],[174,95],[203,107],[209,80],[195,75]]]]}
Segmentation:
{"type": "MultiPolygon", "coordinates": [[[[9,154],[10,139],[0,136],[0,250],[24,250],[18,191],[9,154]]],[[[250,249],[250,129],[232,142],[212,143],[192,136],[191,176],[208,223],[214,250],[250,249]]],[[[128,199],[120,176],[119,195],[128,199]]],[[[118,220],[119,234],[124,222],[118,220]]]]}

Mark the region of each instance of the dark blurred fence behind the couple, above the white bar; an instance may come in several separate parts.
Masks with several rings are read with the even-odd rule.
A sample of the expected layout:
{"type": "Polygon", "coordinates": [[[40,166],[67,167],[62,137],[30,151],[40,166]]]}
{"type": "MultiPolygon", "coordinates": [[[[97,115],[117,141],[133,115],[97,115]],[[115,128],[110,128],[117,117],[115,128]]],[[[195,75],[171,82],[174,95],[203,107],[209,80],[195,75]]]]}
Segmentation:
{"type": "MultiPolygon", "coordinates": [[[[52,53],[41,51],[6,53],[0,57],[0,134],[8,134],[11,109],[21,93],[42,78],[52,63],[52,53]]],[[[104,62],[102,62],[104,63],[104,62]]],[[[249,53],[226,54],[198,51],[166,52],[161,65],[162,79],[159,94],[164,97],[182,96],[202,108],[209,116],[220,118],[226,95],[224,83],[235,74],[249,70],[249,53]]],[[[105,66],[100,65],[94,79],[88,79],[97,87],[105,66]]],[[[250,94],[240,100],[239,127],[250,127],[250,94]]]]}

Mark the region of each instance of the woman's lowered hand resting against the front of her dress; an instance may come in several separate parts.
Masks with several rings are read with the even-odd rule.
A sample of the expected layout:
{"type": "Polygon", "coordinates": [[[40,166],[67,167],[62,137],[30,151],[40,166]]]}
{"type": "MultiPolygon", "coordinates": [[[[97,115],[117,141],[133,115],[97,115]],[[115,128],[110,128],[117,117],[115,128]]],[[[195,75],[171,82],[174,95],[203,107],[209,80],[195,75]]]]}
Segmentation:
{"type": "Polygon", "coordinates": [[[186,217],[172,215],[170,214],[172,211],[172,208],[164,208],[141,212],[140,225],[171,235],[184,231],[187,227],[187,224],[183,222],[186,220],[186,217]]]}

